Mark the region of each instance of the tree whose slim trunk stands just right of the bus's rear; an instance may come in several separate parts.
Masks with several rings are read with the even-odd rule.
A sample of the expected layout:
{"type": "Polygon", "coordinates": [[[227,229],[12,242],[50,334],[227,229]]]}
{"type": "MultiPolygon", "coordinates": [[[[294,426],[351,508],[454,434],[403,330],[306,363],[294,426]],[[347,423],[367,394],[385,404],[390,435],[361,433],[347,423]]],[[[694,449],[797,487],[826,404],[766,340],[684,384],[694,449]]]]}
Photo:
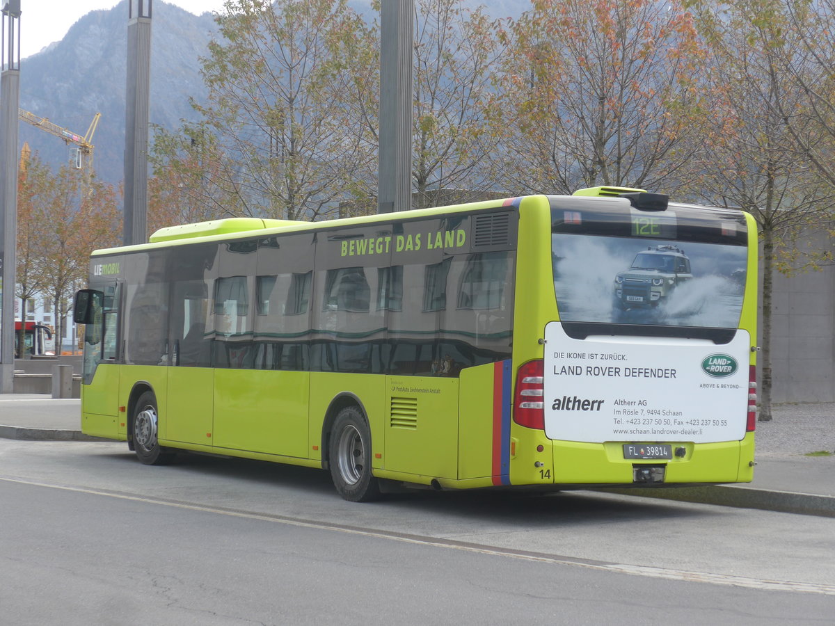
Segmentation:
{"type": "MultiPolygon", "coordinates": [[[[711,68],[700,116],[709,139],[696,155],[701,193],[751,213],[762,244],[761,421],[772,419],[773,273],[797,265],[797,233],[826,220],[835,207],[835,190],[811,155],[792,149],[793,135],[808,134],[812,119],[804,125],[798,117],[792,129],[781,113],[802,110],[805,98],[781,69],[797,56],[784,37],[791,24],[782,6],[777,0],[693,5],[711,68]]],[[[831,260],[830,252],[822,255],[831,260]]]]}

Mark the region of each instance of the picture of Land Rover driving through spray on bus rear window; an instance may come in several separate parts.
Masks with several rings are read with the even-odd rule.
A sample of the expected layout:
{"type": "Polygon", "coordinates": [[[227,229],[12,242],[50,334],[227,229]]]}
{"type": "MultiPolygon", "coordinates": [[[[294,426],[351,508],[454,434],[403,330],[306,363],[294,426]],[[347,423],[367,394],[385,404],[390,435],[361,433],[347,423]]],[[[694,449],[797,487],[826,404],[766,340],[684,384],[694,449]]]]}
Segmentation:
{"type": "Polygon", "coordinates": [[[563,321],[736,328],[745,246],[552,235],[563,321]]]}

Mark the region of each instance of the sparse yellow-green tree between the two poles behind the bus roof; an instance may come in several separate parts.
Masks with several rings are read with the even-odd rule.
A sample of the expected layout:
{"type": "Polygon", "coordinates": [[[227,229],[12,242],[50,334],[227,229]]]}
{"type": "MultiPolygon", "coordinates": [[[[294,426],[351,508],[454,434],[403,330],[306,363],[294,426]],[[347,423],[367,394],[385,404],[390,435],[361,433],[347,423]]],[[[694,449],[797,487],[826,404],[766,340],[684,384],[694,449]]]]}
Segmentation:
{"type": "MultiPolygon", "coordinates": [[[[352,199],[353,176],[373,155],[350,126],[334,51],[348,39],[371,45],[362,19],[347,0],[227,0],[216,21],[222,41],[201,59],[208,100],[193,103],[201,122],[185,128],[211,153],[209,168],[190,167],[213,188],[207,209],[309,220],[352,199]]],[[[168,157],[192,158],[182,144],[168,157]]]]}

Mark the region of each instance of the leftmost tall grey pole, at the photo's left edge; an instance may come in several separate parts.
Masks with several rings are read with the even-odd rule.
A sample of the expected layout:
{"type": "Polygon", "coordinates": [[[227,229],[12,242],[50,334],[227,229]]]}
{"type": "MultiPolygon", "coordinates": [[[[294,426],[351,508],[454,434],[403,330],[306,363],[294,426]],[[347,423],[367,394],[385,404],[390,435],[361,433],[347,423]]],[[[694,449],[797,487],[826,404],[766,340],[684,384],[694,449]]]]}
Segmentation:
{"type": "Polygon", "coordinates": [[[18,248],[20,0],[2,0],[0,36],[0,393],[14,386],[14,285],[18,248]]]}

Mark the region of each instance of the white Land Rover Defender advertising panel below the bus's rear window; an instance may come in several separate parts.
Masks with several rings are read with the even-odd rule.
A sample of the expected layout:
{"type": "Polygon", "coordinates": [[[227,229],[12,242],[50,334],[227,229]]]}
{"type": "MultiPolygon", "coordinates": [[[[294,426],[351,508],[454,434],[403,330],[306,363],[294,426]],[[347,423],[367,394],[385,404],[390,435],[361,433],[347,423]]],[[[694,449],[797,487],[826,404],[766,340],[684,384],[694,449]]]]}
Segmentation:
{"type": "Polygon", "coordinates": [[[545,432],[574,442],[726,442],[745,436],[750,337],[573,339],[545,327],[545,432]]]}

